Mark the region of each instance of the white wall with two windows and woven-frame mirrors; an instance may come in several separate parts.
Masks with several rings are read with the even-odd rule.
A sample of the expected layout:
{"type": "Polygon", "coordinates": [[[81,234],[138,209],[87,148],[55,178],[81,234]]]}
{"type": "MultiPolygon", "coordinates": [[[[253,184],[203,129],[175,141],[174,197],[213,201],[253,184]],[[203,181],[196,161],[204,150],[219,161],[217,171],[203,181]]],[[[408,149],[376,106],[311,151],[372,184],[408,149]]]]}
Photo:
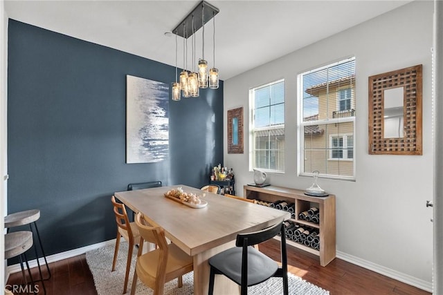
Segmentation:
{"type": "Polygon", "coordinates": [[[253,181],[248,171],[248,89],[282,77],[286,173],[271,175],[271,184],[305,189],[312,179],[296,175],[297,74],[356,57],[356,181],[318,182],[336,195],[338,256],[428,290],[433,266],[432,210],[425,206],[433,197],[432,20],[433,2],[415,1],[224,82],[225,116],[231,108],[245,108],[244,154],[228,154],[226,142],[224,147],[224,165],[235,171],[238,194],[253,181]],[[369,155],[368,77],[417,64],[424,70],[423,155],[369,155]]]}

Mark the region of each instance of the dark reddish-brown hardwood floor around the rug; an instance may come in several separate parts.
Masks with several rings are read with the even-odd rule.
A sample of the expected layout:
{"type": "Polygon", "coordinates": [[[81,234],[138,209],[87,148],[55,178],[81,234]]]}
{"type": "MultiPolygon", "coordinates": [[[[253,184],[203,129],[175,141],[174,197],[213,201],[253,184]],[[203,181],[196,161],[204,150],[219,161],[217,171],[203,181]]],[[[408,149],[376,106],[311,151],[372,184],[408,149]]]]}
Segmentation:
{"type": "MultiPolygon", "coordinates": [[[[280,260],[280,257],[278,257],[279,247],[277,240],[269,240],[260,245],[260,251],[275,260],[280,260]]],[[[287,255],[289,272],[314,285],[327,289],[331,295],[431,294],[338,258],[335,258],[326,267],[321,267],[317,256],[300,249],[288,246],[287,255]]],[[[52,278],[44,282],[46,294],[97,294],[84,254],[51,263],[50,267],[52,278]]],[[[111,264],[109,264],[109,267],[111,267],[111,264]]],[[[37,274],[36,269],[33,269],[34,278],[37,277],[37,274]]],[[[21,272],[11,274],[8,280],[9,285],[18,283],[21,283],[21,272]]],[[[43,294],[42,287],[39,287],[39,289],[39,294],[43,294]]]]}

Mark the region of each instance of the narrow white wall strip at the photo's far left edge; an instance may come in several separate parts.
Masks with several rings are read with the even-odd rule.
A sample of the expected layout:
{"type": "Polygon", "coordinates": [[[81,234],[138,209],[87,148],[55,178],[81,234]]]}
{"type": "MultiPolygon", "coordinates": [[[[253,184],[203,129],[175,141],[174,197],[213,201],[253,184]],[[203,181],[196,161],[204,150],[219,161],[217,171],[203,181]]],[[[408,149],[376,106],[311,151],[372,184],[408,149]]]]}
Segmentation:
{"type": "MultiPolygon", "coordinates": [[[[8,48],[8,18],[6,17],[6,12],[4,8],[4,1],[0,1],[0,229],[4,227],[3,216],[6,216],[6,183],[7,180],[4,180],[4,175],[7,173],[6,169],[6,72],[7,72],[7,48],[8,48]]],[[[4,249],[4,236],[0,235],[0,245],[2,245],[2,249],[4,249]]],[[[0,261],[5,261],[5,252],[0,251],[0,261]]],[[[5,285],[5,269],[6,269],[6,261],[5,266],[0,267],[0,287],[5,285]]],[[[3,289],[3,288],[2,288],[3,289]]],[[[1,291],[3,292],[3,291],[1,291]]]]}

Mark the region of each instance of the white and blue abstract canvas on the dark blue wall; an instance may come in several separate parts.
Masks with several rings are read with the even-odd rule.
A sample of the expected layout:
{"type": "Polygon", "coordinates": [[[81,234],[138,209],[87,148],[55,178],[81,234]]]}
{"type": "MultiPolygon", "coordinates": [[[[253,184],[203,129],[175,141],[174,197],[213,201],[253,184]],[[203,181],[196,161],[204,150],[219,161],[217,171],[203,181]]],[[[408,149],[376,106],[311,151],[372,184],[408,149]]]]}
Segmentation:
{"type": "Polygon", "coordinates": [[[168,84],[126,75],[126,162],[168,158],[168,84]]]}

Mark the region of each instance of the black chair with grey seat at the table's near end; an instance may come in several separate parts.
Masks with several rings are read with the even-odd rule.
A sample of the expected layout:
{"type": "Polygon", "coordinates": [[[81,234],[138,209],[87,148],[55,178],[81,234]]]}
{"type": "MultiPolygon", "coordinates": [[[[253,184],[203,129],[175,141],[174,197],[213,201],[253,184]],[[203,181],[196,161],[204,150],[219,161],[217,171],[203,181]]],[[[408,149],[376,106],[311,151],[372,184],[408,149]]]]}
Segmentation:
{"type": "Polygon", "coordinates": [[[248,287],[260,284],[276,276],[283,279],[283,293],[288,295],[288,267],[286,238],[283,222],[253,233],[238,234],[235,242],[237,247],[227,249],[209,258],[210,277],[209,292],[214,292],[214,278],[216,274],[223,274],[241,286],[242,295],[246,295],[248,287]],[[280,234],[280,251],[282,267],[278,263],[262,254],[253,245],[270,240],[280,234]]]}

